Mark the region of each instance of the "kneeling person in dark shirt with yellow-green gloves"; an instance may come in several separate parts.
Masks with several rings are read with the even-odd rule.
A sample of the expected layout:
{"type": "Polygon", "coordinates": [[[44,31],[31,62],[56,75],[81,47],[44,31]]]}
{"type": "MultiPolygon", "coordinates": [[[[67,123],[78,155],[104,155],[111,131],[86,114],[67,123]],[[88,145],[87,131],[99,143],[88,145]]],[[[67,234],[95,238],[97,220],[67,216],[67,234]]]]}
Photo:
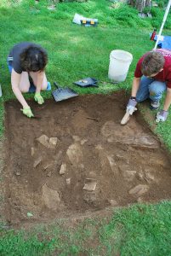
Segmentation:
{"type": "Polygon", "coordinates": [[[8,56],[9,72],[14,95],[22,105],[22,113],[33,117],[30,106],[27,104],[22,92],[35,91],[34,99],[43,104],[41,90],[50,90],[45,67],[48,63],[48,54],[40,45],[23,42],[15,44],[8,56]]]}

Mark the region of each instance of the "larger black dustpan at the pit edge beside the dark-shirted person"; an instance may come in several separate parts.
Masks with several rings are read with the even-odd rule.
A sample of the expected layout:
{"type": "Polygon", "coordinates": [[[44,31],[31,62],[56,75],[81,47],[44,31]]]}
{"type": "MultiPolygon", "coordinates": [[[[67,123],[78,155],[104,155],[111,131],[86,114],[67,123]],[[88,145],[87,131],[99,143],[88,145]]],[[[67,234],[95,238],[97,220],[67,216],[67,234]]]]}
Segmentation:
{"type": "Polygon", "coordinates": [[[54,82],[54,85],[56,86],[56,90],[54,90],[52,92],[52,95],[54,96],[54,100],[55,102],[61,102],[61,101],[65,101],[67,99],[70,99],[72,97],[76,97],[78,96],[77,92],[74,90],[71,90],[68,87],[65,88],[61,88],[59,86],[59,84],[57,84],[56,82],[54,82]]]}

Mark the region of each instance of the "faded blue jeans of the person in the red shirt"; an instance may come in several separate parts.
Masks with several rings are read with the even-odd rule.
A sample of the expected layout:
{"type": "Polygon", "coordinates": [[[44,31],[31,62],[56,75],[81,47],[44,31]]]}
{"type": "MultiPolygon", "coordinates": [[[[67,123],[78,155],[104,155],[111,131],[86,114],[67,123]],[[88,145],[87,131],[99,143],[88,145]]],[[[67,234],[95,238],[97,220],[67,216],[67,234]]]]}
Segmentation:
{"type": "Polygon", "coordinates": [[[136,101],[143,102],[150,98],[152,102],[159,101],[166,90],[166,83],[143,76],[140,80],[140,88],[137,91],[136,101]]]}

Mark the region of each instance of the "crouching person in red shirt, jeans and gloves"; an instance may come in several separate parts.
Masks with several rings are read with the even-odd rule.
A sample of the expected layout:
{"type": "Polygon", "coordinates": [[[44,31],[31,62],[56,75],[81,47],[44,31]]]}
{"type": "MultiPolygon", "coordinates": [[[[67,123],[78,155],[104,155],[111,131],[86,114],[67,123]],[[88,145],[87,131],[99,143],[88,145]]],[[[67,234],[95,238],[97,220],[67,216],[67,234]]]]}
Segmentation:
{"type": "Polygon", "coordinates": [[[160,107],[162,93],[166,91],[163,109],[157,113],[157,122],[168,118],[171,104],[171,51],[156,49],[143,55],[137,63],[127,111],[133,114],[138,102],[151,99],[151,109],[160,107]]]}

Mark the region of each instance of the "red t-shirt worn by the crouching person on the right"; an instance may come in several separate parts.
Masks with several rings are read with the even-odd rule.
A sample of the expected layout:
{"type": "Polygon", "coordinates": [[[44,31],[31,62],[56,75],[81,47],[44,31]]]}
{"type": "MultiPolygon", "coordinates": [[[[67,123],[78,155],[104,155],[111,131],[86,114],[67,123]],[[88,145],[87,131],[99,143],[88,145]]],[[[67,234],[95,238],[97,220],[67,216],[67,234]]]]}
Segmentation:
{"type": "MultiPolygon", "coordinates": [[[[154,79],[156,79],[157,81],[166,82],[167,87],[171,88],[171,50],[156,49],[156,51],[162,53],[162,55],[164,56],[165,62],[164,62],[163,70],[161,72],[157,73],[157,75],[154,77],[154,79]]],[[[135,78],[141,78],[143,75],[141,73],[141,63],[142,63],[145,55],[143,55],[137,63],[137,66],[136,66],[136,69],[134,72],[135,78]]]]}

